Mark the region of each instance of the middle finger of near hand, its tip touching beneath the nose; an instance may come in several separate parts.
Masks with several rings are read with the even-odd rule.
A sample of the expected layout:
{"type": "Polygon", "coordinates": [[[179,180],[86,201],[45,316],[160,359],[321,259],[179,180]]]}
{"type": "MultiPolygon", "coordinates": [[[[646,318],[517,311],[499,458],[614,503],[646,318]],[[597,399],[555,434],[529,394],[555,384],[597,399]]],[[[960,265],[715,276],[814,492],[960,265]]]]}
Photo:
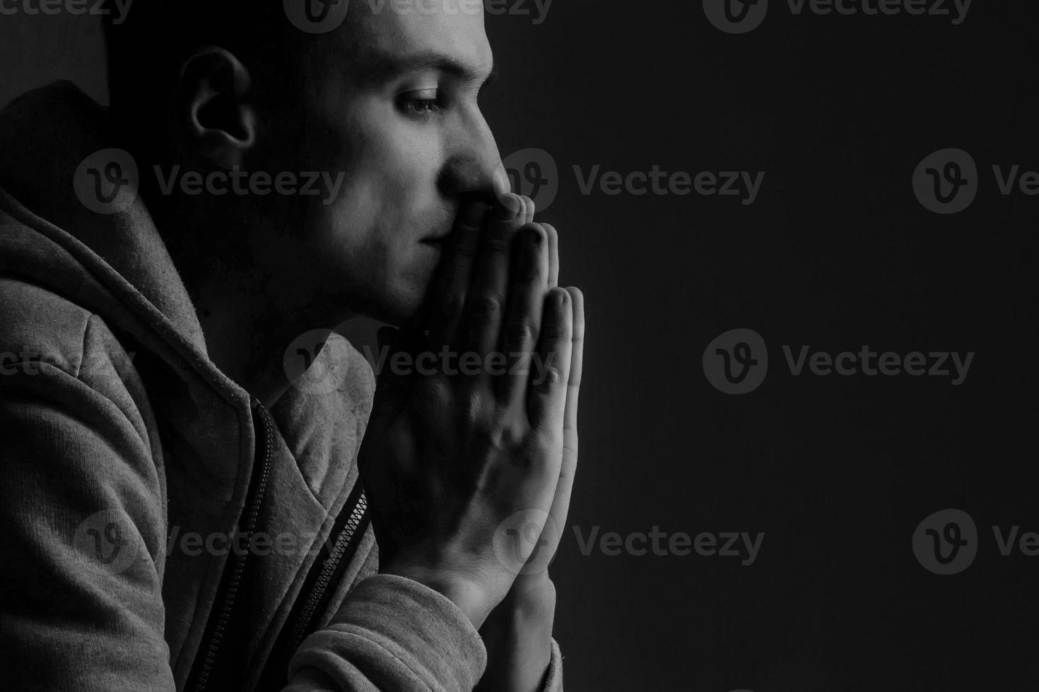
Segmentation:
{"type": "Polygon", "coordinates": [[[462,344],[467,352],[481,357],[498,348],[506,304],[512,239],[518,229],[516,219],[523,213],[524,202],[518,195],[508,193],[501,201],[502,205],[488,214],[480,243],[476,276],[462,312],[462,344]]]}

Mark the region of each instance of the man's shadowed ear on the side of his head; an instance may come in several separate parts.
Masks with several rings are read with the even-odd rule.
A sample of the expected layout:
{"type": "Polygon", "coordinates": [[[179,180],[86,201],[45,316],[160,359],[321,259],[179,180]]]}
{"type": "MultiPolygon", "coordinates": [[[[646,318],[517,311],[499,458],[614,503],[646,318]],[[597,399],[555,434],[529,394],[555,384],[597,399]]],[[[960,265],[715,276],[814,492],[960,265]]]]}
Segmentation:
{"type": "Polygon", "coordinates": [[[216,165],[241,166],[257,140],[248,70],[222,48],[193,53],[181,68],[177,112],[188,143],[216,165]]]}

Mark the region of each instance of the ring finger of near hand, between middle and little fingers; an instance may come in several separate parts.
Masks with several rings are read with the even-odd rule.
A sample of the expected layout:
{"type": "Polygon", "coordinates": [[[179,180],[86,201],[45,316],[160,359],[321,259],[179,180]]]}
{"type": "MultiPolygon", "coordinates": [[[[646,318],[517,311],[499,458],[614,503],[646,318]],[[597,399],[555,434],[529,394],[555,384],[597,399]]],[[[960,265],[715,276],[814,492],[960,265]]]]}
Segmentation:
{"type": "Polygon", "coordinates": [[[527,396],[531,360],[541,328],[548,289],[548,237],[538,223],[526,224],[517,233],[509,282],[508,308],[502,327],[501,350],[508,370],[498,378],[503,402],[521,403],[527,396]]]}

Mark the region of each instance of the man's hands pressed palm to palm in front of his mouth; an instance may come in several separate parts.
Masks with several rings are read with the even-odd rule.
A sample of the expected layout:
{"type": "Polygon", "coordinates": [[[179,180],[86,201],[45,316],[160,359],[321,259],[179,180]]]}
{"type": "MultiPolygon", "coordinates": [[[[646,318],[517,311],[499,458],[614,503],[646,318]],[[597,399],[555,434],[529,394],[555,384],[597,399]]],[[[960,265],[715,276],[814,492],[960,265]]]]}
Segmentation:
{"type": "Polygon", "coordinates": [[[503,205],[511,213],[462,214],[434,279],[429,336],[408,330],[391,344],[483,366],[384,370],[359,454],[382,572],[439,590],[477,628],[536,547],[502,526],[526,513],[539,533],[553,508],[572,353],[572,300],[548,286],[533,203],[506,195],[503,205]],[[496,353],[515,354],[504,372],[489,367],[496,353]]]}

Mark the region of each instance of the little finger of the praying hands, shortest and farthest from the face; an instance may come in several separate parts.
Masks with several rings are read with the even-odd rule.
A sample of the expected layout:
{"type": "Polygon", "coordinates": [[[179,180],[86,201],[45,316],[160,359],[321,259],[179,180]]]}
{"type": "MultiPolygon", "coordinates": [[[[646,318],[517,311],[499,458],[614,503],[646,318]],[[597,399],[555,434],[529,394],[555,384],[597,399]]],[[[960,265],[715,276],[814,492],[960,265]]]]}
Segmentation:
{"type": "Polygon", "coordinates": [[[551,439],[558,439],[563,432],[572,338],[570,295],[562,288],[550,288],[544,299],[537,358],[531,368],[527,408],[531,424],[551,439]]]}

